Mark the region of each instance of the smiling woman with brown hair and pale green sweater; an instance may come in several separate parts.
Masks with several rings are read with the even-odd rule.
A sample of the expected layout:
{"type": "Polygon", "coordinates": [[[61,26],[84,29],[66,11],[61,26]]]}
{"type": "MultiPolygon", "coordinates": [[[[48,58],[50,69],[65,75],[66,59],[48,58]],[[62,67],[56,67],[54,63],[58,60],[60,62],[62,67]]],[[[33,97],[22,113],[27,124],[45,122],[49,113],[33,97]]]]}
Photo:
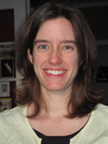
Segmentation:
{"type": "Polygon", "coordinates": [[[78,9],[36,9],[19,32],[17,68],[19,106],[0,116],[1,144],[107,143],[108,109],[91,88],[96,43],[78,9]]]}

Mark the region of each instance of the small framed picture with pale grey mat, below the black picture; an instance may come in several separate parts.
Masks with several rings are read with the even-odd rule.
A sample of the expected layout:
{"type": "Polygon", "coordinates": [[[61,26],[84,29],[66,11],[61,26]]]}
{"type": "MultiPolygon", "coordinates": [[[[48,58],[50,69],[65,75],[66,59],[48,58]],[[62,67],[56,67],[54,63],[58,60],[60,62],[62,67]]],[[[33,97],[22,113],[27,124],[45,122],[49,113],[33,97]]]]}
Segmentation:
{"type": "Polygon", "coordinates": [[[9,97],[9,96],[10,96],[10,83],[0,82],[0,97],[9,97]]]}

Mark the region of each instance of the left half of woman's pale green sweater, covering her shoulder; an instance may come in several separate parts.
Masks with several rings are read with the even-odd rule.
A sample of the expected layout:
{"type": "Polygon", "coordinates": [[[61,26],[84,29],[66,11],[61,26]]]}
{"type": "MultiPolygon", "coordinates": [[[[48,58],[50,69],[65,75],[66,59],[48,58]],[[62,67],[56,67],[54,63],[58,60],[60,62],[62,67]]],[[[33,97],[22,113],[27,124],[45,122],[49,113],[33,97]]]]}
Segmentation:
{"type": "Polygon", "coordinates": [[[0,144],[35,143],[26,116],[27,107],[16,107],[0,113],[0,144]]]}

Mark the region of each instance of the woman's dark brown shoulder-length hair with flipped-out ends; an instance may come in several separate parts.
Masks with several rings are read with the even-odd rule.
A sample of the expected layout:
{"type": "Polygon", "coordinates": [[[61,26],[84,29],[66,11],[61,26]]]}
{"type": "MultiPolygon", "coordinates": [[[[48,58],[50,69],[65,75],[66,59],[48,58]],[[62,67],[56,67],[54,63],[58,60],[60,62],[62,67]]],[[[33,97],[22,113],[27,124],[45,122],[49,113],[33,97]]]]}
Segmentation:
{"type": "Polygon", "coordinates": [[[27,49],[30,48],[32,54],[34,39],[40,26],[46,20],[59,17],[66,18],[71,22],[81,59],[79,71],[72,86],[71,99],[68,104],[68,117],[87,115],[102,100],[99,93],[91,87],[96,75],[98,60],[96,41],[87,20],[76,7],[70,4],[46,3],[38,7],[28,18],[19,32],[16,43],[17,68],[23,76],[22,85],[18,89],[17,103],[21,106],[34,103],[34,113],[31,117],[39,113],[43,100],[40,82],[28,60],[27,49]]]}

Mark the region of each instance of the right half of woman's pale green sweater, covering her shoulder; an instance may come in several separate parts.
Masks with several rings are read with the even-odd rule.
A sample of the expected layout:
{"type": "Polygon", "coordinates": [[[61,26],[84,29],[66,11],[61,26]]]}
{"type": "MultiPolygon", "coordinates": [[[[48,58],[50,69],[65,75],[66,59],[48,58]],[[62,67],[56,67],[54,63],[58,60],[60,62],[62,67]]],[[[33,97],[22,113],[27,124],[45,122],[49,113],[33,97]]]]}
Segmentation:
{"type": "Polygon", "coordinates": [[[98,104],[79,134],[73,138],[77,144],[108,143],[108,106],[98,104]]]}

